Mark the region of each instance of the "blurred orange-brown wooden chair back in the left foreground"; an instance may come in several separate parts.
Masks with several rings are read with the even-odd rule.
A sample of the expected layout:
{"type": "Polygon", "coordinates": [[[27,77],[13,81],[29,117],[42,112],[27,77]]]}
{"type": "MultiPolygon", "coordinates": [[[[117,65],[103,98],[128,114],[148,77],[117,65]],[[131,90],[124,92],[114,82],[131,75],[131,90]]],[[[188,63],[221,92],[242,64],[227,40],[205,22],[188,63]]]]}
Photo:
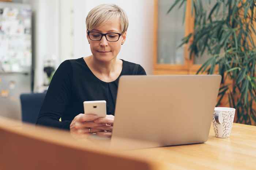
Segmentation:
{"type": "MultiPolygon", "coordinates": [[[[0,117],[1,170],[163,170],[143,155],[72,138],[69,132],[0,117]]],[[[108,141],[108,140],[103,140],[108,141]]]]}

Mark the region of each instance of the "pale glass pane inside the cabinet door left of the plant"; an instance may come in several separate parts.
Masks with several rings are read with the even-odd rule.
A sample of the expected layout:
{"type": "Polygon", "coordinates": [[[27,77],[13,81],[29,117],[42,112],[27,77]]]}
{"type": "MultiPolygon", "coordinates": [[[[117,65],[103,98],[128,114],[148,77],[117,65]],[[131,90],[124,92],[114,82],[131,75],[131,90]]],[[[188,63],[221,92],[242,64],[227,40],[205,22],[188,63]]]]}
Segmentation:
{"type": "Polygon", "coordinates": [[[175,0],[158,0],[157,63],[184,64],[184,48],[177,48],[184,37],[183,11],[175,7],[167,14],[175,0]]]}

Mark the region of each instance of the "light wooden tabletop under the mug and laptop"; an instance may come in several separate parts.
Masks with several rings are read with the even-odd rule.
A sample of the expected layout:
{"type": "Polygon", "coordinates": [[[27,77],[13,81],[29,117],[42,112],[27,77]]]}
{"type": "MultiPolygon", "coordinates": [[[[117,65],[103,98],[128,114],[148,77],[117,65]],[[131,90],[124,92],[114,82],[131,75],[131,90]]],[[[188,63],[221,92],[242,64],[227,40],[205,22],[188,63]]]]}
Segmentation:
{"type": "Polygon", "coordinates": [[[256,169],[256,126],[234,123],[229,138],[206,143],[128,151],[165,162],[170,169],[256,169]]]}

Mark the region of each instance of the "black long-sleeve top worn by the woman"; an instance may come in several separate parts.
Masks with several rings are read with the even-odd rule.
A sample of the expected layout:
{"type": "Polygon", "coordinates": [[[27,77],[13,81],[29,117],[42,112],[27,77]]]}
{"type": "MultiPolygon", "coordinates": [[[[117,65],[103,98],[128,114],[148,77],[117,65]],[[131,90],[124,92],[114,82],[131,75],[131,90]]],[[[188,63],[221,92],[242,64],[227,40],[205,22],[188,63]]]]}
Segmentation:
{"type": "Polygon", "coordinates": [[[122,61],[121,74],[107,83],[91,72],[83,58],[65,60],[50,82],[37,124],[69,130],[74,117],[84,112],[83,102],[91,100],[106,100],[107,114],[114,115],[120,76],[146,75],[142,66],[122,61]],[[136,65],[138,70],[134,74],[136,65]]]}

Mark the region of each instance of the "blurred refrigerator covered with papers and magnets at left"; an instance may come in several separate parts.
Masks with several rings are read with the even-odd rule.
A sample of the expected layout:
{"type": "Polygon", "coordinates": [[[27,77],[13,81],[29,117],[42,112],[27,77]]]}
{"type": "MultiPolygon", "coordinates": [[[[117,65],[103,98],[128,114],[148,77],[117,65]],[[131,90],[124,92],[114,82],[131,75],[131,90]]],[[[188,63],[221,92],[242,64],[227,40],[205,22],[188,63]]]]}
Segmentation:
{"type": "Polygon", "coordinates": [[[0,2],[0,116],[21,119],[20,94],[33,91],[32,11],[0,2]]]}

